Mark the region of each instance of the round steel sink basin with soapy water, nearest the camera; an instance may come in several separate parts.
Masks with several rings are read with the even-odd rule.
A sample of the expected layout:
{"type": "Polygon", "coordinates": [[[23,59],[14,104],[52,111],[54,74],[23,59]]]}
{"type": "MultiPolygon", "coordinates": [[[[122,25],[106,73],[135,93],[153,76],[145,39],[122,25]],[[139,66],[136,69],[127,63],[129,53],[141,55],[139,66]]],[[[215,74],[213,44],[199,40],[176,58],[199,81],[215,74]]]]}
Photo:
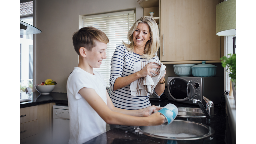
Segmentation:
{"type": "Polygon", "coordinates": [[[173,120],[167,126],[135,126],[134,129],[147,136],[169,140],[198,140],[214,134],[208,125],[184,120],[173,120]]]}

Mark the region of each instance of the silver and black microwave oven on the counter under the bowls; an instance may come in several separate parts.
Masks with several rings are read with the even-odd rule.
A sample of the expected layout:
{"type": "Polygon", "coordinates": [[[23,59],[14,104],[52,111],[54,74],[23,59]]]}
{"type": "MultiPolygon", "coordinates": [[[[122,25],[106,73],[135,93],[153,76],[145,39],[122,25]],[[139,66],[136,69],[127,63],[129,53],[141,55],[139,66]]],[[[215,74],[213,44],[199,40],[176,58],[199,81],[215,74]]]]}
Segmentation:
{"type": "MultiPolygon", "coordinates": [[[[199,99],[206,105],[203,96],[213,101],[215,105],[220,103],[224,92],[224,77],[168,77],[168,100],[195,104],[191,99],[199,99]],[[188,100],[190,98],[191,101],[188,100]]],[[[197,105],[197,104],[196,104],[197,105]]]]}

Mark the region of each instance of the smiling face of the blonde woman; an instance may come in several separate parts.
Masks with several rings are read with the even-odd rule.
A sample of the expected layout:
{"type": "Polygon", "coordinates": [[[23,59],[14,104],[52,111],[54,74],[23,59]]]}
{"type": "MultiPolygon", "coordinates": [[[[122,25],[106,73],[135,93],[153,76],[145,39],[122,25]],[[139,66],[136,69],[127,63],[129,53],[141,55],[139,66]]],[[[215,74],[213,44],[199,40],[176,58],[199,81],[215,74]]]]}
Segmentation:
{"type": "Polygon", "coordinates": [[[133,32],[133,42],[137,48],[145,48],[148,40],[150,40],[149,26],[145,23],[139,23],[137,29],[133,32]]]}

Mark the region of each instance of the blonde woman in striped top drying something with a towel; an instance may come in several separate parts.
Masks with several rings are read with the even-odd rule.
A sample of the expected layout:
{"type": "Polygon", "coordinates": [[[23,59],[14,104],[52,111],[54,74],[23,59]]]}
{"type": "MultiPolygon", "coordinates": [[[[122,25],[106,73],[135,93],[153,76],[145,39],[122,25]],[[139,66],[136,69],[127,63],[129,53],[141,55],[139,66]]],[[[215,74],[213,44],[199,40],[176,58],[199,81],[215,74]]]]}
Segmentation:
{"type": "MultiPolygon", "coordinates": [[[[153,68],[160,68],[159,65],[152,65],[153,62],[147,64],[142,70],[133,73],[134,63],[136,62],[145,62],[150,59],[159,61],[156,55],[160,43],[157,23],[153,18],[144,16],[133,24],[127,37],[131,43],[127,44],[123,41],[123,45],[116,48],[111,59],[109,83],[112,92],[110,97],[115,107],[136,110],[151,106],[150,94],[132,96],[130,84],[147,75],[152,77],[151,73],[159,74],[152,70],[153,68]]],[[[157,95],[164,92],[164,75],[153,91],[157,95]]]]}

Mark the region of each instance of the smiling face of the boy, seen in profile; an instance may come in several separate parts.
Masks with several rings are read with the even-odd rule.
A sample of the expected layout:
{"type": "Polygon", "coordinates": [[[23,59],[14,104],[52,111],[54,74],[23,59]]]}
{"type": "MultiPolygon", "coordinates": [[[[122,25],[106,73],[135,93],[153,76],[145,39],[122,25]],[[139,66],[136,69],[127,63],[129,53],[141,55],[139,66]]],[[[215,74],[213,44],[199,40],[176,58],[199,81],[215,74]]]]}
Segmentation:
{"type": "Polygon", "coordinates": [[[107,58],[106,49],[107,44],[96,40],[96,46],[92,51],[87,51],[86,60],[90,67],[99,68],[103,59],[107,58]]]}

